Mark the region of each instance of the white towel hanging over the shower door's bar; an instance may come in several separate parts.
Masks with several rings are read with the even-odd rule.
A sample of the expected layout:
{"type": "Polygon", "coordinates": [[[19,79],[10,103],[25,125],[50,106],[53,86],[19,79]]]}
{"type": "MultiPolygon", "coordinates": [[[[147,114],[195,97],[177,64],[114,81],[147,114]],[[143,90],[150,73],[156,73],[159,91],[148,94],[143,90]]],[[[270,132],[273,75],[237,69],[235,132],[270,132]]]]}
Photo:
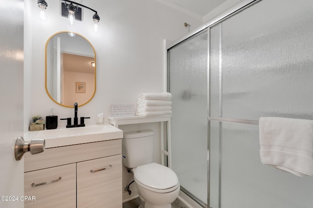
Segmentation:
{"type": "Polygon", "coordinates": [[[263,164],[297,176],[313,175],[313,121],[261,117],[260,157],[263,164]]]}

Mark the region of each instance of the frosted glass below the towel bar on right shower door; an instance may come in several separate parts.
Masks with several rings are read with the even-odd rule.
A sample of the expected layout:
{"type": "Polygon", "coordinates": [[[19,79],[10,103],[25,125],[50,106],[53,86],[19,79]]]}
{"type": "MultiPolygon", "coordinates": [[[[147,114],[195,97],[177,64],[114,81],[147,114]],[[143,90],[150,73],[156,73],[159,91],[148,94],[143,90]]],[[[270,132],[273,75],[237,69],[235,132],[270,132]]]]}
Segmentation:
{"type": "MultiPolygon", "coordinates": [[[[313,178],[298,177],[262,165],[258,126],[211,121],[211,150],[221,151],[221,208],[311,208],[313,178]],[[221,143],[221,147],[218,144],[221,143]]],[[[217,153],[211,152],[211,170],[216,172],[217,153]]],[[[210,178],[210,207],[218,208],[210,178]],[[212,193],[213,192],[213,193],[212,193]]]]}

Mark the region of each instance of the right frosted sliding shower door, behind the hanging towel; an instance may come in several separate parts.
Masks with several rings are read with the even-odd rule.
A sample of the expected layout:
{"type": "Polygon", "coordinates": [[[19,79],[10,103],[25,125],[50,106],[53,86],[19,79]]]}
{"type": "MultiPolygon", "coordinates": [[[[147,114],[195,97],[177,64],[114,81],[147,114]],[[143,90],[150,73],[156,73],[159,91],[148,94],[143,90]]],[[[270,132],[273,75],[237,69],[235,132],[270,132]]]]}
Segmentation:
{"type": "Polygon", "coordinates": [[[312,22],[312,0],[262,0],[210,28],[210,207],[312,207],[312,177],[262,165],[258,127],[313,120],[312,22]]]}

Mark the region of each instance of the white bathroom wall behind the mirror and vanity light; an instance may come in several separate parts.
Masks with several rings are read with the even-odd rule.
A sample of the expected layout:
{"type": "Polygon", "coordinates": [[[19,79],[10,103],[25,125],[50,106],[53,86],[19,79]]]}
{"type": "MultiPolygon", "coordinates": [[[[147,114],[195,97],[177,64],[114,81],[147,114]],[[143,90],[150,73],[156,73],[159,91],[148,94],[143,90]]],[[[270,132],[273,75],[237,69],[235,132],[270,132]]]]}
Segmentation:
{"type": "MultiPolygon", "coordinates": [[[[145,92],[162,92],[163,40],[176,40],[188,33],[184,22],[196,28],[201,20],[187,16],[155,0],[78,0],[77,2],[97,10],[100,16],[99,33],[92,32],[93,12],[84,9],[84,21],[75,26],[67,24],[60,16],[60,1],[46,0],[47,22],[38,19],[37,1],[25,0],[29,5],[25,13],[25,113],[24,129],[28,130],[33,114],[48,115],[50,107],[59,118],[73,117],[74,110],[54,103],[45,92],[45,43],[59,31],[73,31],[89,39],[96,51],[96,94],[86,105],[79,107],[78,116],[89,117],[86,124],[95,124],[97,113],[111,116],[112,104],[133,104],[137,95],[145,92]],[[26,15],[27,16],[27,15],[26,15]]],[[[191,29],[192,29],[191,28],[191,29]]],[[[192,32],[192,31],[191,31],[192,32]]],[[[59,120],[59,127],[66,121],[59,120]]],[[[139,125],[121,126],[124,131],[137,130],[139,125]]],[[[160,162],[159,124],[143,124],[141,129],[156,132],[154,161],[160,162]]],[[[132,180],[123,172],[123,186],[132,180]]],[[[135,187],[132,185],[132,187],[135,187]]],[[[131,187],[131,188],[132,188],[131,187]]],[[[134,195],[134,194],[132,194],[134,195]]],[[[127,195],[124,197],[128,197],[127,195]]]]}

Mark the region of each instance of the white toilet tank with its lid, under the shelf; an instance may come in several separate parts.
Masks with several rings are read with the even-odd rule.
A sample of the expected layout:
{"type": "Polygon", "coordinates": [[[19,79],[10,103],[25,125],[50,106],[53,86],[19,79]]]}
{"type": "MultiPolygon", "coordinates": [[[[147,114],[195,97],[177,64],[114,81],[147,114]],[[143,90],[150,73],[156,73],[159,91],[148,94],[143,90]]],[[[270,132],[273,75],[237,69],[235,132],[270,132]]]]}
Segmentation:
{"type": "Polygon", "coordinates": [[[150,129],[124,132],[122,138],[123,165],[135,168],[152,163],[154,132],[150,129]]]}

